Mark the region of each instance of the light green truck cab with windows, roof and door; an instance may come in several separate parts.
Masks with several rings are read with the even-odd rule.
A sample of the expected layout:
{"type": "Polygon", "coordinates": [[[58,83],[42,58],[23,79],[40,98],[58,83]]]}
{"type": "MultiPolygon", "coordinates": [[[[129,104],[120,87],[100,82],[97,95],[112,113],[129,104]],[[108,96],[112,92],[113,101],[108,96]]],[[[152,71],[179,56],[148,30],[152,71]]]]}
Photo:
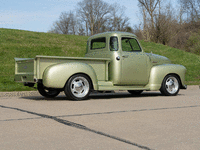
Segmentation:
{"type": "Polygon", "coordinates": [[[149,80],[149,56],[136,36],[123,32],[99,34],[88,40],[86,57],[110,58],[109,79],[114,85],[146,85],[149,80]],[[106,36],[105,36],[106,35],[106,36]]]}

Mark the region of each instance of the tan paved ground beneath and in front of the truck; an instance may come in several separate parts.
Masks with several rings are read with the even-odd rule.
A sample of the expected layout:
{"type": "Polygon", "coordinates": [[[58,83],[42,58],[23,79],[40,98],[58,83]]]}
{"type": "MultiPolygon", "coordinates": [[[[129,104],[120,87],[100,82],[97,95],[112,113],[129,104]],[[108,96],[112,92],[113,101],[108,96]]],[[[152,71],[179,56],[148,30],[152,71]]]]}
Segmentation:
{"type": "Polygon", "coordinates": [[[69,101],[37,92],[0,93],[3,150],[199,150],[200,89],[91,94],[69,101]]]}

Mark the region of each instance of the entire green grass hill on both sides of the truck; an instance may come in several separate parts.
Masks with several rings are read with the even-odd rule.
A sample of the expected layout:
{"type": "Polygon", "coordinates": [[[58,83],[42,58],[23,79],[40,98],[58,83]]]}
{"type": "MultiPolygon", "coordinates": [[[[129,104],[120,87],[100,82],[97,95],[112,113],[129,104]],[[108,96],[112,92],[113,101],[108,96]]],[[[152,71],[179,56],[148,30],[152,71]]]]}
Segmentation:
{"type": "MultiPolygon", "coordinates": [[[[0,91],[32,90],[14,82],[15,57],[84,56],[88,37],[0,28],[0,91]]],[[[186,83],[200,84],[200,56],[161,44],[140,41],[145,52],[168,57],[187,68],[186,83]]]]}

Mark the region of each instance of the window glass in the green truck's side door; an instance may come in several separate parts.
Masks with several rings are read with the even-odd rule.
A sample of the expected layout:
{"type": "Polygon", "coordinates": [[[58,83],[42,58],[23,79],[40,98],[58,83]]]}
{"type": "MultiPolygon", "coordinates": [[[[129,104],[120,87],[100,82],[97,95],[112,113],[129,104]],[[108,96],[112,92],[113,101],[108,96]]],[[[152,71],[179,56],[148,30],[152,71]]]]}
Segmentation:
{"type": "Polygon", "coordinates": [[[136,39],[123,37],[122,38],[122,50],[128,51],[128,52],[140,52],[141,48],[136,39]]]}

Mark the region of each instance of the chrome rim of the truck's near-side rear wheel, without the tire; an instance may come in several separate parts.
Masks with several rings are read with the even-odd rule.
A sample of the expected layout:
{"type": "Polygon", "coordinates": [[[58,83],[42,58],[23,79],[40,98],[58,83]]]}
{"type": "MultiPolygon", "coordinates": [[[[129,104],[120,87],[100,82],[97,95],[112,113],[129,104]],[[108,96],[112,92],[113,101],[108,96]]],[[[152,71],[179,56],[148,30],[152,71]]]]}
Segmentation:
{"type": "Polygon", "coordinates": [[[72,94],[78,98],[84,97],[89,92],[89,82],[84,77],[76,77],[71,82],[72,94]]]}

